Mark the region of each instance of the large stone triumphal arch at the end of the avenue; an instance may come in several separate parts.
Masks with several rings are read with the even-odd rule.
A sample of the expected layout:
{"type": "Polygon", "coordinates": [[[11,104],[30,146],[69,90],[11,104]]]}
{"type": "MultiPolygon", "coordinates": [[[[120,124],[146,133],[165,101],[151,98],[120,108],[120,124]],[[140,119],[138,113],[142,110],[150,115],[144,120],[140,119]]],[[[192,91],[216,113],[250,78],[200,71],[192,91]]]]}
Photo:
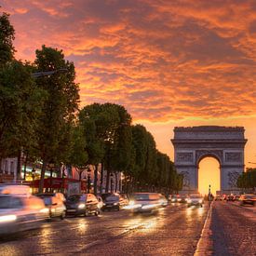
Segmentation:
{"type": "Polygon", "coordinates": [[[242,127],[174,128],[174,164],[184,177],[183,192],[198,190],[198,166],[207,156],[220,163],[222,193],[236,190],[236,179],[245,168],[244,132],[242,127]]]}

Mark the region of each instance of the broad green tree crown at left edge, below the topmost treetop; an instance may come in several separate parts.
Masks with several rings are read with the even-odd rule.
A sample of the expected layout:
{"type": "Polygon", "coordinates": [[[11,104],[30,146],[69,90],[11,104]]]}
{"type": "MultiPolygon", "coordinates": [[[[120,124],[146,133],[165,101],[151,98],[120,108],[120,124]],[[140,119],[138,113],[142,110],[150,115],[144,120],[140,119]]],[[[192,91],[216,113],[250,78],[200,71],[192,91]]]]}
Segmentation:
{"type": "Polygon", "coordinates": [[[36,141],[34,129],[46,93],[37,88],[30,69],[11,61],[0,70],[0,157],[15,155],[20,146],[36,141]]]}

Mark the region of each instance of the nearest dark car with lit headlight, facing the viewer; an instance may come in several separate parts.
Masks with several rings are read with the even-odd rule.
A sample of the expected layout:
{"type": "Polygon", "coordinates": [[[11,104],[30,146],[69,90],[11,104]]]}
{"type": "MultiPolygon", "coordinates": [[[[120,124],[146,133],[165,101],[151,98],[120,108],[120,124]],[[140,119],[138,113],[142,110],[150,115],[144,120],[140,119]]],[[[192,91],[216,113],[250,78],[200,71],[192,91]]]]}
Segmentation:
{"type": "Polygon", "coordinates": [[[100,214],[99,201],[93,194],[75,194],[68,196],[66,200],[67,215],[84,215],[100,214]]]}

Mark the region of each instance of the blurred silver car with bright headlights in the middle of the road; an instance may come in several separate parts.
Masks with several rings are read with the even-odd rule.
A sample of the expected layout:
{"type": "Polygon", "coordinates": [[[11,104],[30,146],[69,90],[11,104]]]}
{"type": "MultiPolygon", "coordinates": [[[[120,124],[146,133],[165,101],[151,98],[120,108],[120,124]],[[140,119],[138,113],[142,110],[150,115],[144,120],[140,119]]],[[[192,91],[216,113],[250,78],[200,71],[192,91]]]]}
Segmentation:
{"type": "Polygon", "coordinates": [[[153,212],[162,207],[160,195],[157,193],[134,193],[130,195],[129,205],[126,209],[132,212],[153,212]]]}

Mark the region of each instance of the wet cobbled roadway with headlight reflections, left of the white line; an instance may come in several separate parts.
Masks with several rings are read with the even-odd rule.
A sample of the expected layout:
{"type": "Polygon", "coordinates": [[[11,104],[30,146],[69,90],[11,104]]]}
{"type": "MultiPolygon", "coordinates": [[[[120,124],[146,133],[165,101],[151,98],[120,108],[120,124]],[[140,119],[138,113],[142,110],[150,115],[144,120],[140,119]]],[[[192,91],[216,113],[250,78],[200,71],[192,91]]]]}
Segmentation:
{"type": "Polygon", "coordinates": [[[0,255],[194,255],[209,206],[67,218],[0,241],[0,255]]]}

